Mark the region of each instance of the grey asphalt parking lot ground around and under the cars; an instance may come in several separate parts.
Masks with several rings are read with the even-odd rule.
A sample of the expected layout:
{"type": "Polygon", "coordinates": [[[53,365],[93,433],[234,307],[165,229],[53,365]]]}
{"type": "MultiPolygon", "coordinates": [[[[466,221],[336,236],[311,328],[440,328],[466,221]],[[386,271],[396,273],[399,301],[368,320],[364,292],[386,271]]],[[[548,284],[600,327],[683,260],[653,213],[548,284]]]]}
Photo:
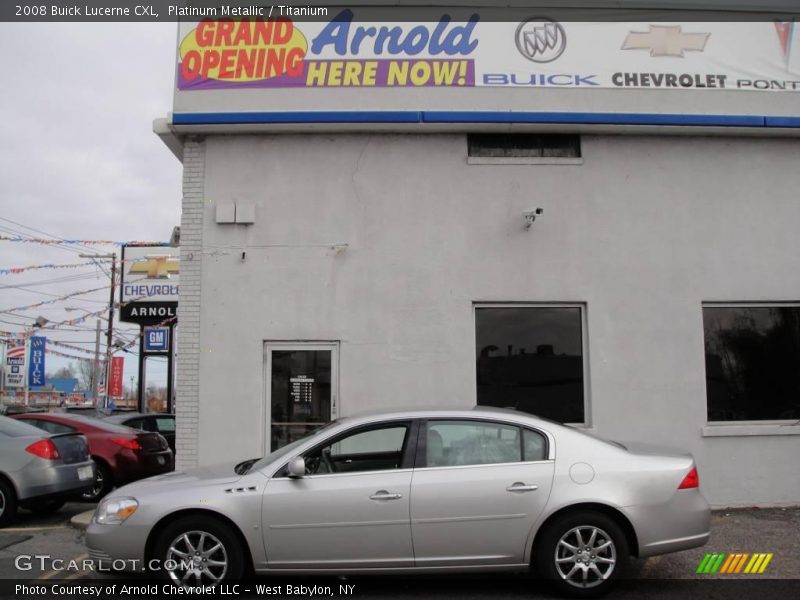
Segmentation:
{"type": "MultiPolygon", "coordinates": [[[[121,580],[113,574],[91,571],[59,572],[32,559],[20,563],[19,557],[48,555],[52,558],[81,561],[86,558],[83,533],[69,523],[72,516],[92,505],[70,503],[54,515],[42,517],[20,511],[17,522],[0,530],[0,579],[88,582],[121,580]],[[22,570],[15,566],[30,565],[22,570]],[[44,568],[42,568],[44,566],[44,568]]],[[[784,509],[744,509],[716,511],[712,536],[704,548],[632,562],[625,581],[613,598],[763,598],[772,594],[800,596],[800,507],[784,509]],[[707,552],[769,552],[773,558],[763,575],[701,575],[696,570],[707,552]]],[[[354,585],[354,596],[361,598],[549,598],[541,582],[528,575],[426,576],[426,577],[332,577],[259,578],[269,586],[305,585],[329,587],[338,597],[340,585],[354,585]]],[[[255,591],[255,590],[253,590],[255,591]]],[[[296,597],[306,593],[277,594],[296,597]]],[[[328,593],[323,594],[328,596],[328,593]]],[[[4,595],[4,597],[11,597],[4,595]]],[[[20,596],[22,597],[22,596],[20,596]]],[[[276,597],[276,596],[273,596],[276,597]]]]}

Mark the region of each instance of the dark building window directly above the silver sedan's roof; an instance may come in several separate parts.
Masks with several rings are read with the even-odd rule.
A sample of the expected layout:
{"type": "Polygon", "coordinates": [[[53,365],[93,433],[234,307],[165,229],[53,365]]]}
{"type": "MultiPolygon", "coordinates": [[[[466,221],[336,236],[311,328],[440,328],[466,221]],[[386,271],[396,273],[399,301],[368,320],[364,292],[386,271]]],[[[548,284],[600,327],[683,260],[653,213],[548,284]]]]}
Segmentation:
{"type": "Polygon", "coordinates": [[[579,306],[475,309],[478,404],[584,422],[579,306]]]}

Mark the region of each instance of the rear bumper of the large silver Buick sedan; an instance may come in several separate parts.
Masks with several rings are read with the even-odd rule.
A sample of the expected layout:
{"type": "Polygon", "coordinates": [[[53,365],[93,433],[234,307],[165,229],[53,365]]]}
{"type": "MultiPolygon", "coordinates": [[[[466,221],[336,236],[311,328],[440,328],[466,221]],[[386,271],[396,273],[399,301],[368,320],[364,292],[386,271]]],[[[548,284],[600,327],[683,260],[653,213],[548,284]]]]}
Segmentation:
{"type": "Polygon", "coordinates": [[[699,489],[676,490],[666,503],[627,507],[639,541],[639,557],[697,548],[711,536],[711,508],[699,489]]]}

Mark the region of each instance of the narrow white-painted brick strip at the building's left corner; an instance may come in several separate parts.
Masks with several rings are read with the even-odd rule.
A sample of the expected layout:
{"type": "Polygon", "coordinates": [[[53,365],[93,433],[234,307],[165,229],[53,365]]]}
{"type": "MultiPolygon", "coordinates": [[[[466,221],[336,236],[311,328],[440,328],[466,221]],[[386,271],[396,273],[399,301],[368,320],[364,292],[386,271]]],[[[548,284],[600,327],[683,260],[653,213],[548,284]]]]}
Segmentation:
{"type": "Polygon", "coordinates": [[[198,465],[200,416],[200,276],[203,246],[205,143],[187,139],[183,150],[181,281],[178,303],[180,351],[176,369],[176,468],[198,465]]]}

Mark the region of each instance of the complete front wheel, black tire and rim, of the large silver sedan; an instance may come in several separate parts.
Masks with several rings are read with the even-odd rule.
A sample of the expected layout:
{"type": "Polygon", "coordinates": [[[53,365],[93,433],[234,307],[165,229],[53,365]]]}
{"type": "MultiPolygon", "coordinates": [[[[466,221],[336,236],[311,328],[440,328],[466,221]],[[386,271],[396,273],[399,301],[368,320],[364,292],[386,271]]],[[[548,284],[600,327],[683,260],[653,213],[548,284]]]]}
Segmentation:
{"type": "Polygon", "coordinates": [[[245,572],[245,553],[239,538],[229,525],[213,517],[188,516],[168,524],[153,548],[154,558],[162,567],[156,575],[174,585],[238,581],[245,572]],[[194,566],[186,568],[188,560],[196,561],[194,566]]]}

